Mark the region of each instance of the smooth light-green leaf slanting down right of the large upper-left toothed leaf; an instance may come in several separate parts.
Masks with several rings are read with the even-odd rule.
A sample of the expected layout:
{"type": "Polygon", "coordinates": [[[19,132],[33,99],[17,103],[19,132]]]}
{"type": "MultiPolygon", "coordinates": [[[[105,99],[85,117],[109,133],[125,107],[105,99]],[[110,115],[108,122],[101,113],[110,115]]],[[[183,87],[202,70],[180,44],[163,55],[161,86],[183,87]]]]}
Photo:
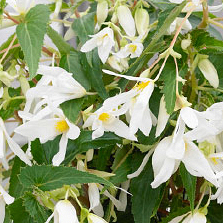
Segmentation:
{"type": "Polygon", "coordinates": [[[63,37],[55,31],[51,26],[48,26],[47,28],[47,35],[50,37],[50,39],[53,41],[53,43],[56,45],[58,50],[61,54],[69,54],[70,51],[73,49],[70,44],[68,44],[63,37]]]}

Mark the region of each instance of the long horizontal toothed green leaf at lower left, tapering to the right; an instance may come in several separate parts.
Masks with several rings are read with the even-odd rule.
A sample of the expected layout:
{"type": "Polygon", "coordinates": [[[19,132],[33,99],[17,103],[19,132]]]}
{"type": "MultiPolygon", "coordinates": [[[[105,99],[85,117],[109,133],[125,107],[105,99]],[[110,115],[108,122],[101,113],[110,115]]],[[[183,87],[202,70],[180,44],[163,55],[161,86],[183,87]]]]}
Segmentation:
{"type": "Polygon", "coordinates": [[[27,166],[22,168],[19,179],[26,189],[38,187],[43,191],[78,183],[100,183],[112,186],[109,181],[96,175],[79,171],[74,167],[64,166],[27,166]]]}

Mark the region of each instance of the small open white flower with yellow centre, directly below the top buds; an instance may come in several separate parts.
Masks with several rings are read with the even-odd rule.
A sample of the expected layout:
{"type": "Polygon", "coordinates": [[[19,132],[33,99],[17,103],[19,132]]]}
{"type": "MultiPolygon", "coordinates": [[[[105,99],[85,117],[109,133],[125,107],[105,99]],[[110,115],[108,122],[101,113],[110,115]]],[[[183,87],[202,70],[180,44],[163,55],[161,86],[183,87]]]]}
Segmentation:
{"type": "Polygon", "coordinates": [[[141,55],[143,51],[143,45],[139,42],[132,42],[125,47],[123,47],[119,52],[115,53],[115,55],[119,58],[126,58],[130,55],[130,58],[136,58],[141,55]]]}

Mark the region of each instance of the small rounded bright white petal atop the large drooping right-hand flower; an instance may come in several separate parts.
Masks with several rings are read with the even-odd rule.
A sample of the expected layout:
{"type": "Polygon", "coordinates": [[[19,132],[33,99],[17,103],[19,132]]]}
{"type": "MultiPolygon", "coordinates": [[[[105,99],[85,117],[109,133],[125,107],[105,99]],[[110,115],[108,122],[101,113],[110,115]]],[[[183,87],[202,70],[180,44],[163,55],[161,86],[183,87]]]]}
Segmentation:
{"type": "Polygon", "coordinates": [[[192,108],[182,108],[180,111],[180,115],[188,127],[194,129],[198,126],[198,119],[195,111],[192,108]]]}

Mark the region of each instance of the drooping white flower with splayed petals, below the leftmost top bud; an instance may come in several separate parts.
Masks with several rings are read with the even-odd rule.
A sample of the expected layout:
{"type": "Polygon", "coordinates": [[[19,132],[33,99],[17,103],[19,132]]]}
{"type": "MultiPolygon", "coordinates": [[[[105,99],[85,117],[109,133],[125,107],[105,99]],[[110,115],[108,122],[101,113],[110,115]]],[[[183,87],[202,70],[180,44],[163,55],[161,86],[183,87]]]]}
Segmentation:
{"type": "Polygon", "coordinates": [[[95,35],[90,35],[90,37],[92,38],[81,47],[81,51],[89,52],[98,47],[98,55],[102,63],[105,63],[112,47],[115,45],[113,30],[107,27],[95,35]]]}

